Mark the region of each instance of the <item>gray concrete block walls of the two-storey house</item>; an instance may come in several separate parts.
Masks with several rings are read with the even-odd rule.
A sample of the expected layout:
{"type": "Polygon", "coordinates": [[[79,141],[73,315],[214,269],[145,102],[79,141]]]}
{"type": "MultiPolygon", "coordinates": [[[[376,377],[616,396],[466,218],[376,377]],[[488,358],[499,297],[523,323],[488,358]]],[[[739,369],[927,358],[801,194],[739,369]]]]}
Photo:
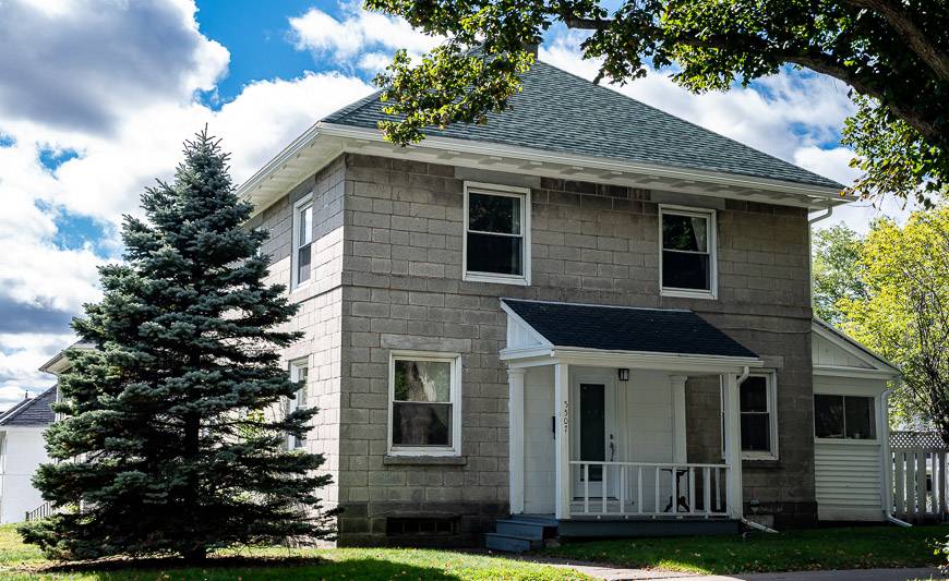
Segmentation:
{"type": "MultiPolygon", "coordinates": [[[[692,308],[757,352],[778,372],[781,456],[746,463],[745,501],[756,500],[778,524],[813,521],[804,209],[347,154],[264,213],[266,226],[279,230],[268,252],[274,276],[285,282],[288,208],[314,185],[333,208],[317,221],[333,225],[322,227],[317,242],[339,239],[325,244],[321,276],[329,281],[321,279],[319,291],[300,299],[321,304],[310,313],[322,314],[301,313],[300,328],[312,337],[292,352],[313,349],[314,362],[326,365],[326,375],[311,382],[324,410],[317,416],[321,441],[312,446],[333,459],[327,468],[345,509],[341,543],[385,543],[385,519],[407,516],[457,518],[459,534],[452,541],[470,542],[507,511],[501,296],[692,308]],[[531,189],[530,287],[461,280],[465,180],[531,189]],[[718,300],[659,295],[660,203],[717,210],[718,300]],[[464,463],[407,465],[386,457],[393,349],[463,354],[464,463]]],[[[708,446],[718,441],[718,409],[717,379],[689,379],[689,461],[720,457],[717,445],[708,446]]]]}

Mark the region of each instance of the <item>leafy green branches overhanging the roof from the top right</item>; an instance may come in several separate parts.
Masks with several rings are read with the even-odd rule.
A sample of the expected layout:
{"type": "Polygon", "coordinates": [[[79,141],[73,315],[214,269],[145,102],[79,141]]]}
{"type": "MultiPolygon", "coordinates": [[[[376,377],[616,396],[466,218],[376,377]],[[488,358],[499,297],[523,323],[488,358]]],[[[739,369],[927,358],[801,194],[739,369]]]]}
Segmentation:
{"type": "Polygon", "coordinates": [[[945,0],[367,0],[447,37],[420,63],[405,51],[377,77],[395,143],[428,126],[484,123],[520,89],[532,48],[557,23],[587,31],[597,78],[625,83],[652,68],[694,92],[784,65],[839,78],[857,95],[843,129],[864,171],[853,190],[928,199],[949,187],[949,4],[945,0]],[[612,5],[612,4],[611,4],[612,5]],[[474,48],[477,47],[477,50],[474,48]]]}

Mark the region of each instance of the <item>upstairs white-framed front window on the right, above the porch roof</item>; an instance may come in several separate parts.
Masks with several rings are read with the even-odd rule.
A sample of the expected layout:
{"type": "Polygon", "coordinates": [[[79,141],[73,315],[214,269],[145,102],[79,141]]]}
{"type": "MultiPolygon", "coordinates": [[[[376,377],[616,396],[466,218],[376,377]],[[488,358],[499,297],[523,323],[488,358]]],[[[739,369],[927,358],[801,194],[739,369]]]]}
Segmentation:
{"type": "Polygon", "coordinates": [[[660,289],[664,296],[714,299],[714,210],[659,207],[660,289]]]}

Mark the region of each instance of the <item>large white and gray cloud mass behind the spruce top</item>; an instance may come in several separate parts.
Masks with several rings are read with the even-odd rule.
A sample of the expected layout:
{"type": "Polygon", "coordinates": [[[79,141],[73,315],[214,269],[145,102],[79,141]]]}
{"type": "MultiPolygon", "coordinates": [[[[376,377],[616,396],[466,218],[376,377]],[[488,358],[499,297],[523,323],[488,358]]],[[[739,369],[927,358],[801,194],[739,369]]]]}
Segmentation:
{"type": "Polygon", "coordinates": [[[137,211],[146,185],[171,177],[182,141],[205,123],[233,153],[239,183],[317,119],[372,90],[353,76],[305,73],[251,83],[215,111],[195,92],[214,88],[228,53],[201,35],[190,1],[15,2],[4,10],[0,50],[50,60],[33,61],[39,74],[14,68],[10,52],[0,59],[8,80],[0,81],[0,132],[14,140],[0,146],[0,410],[50,384],[36,368],[74,340],[70,315],[100,295],[96,266],[106,259],[88,246],[59,247],[58,216],[119,225],[123,213],[137,211]],[[11,31],[15,47],[4,38],[11,31]],[[61,86],[70,83],[73,95],[61,86]],[[79,157],[50,171],[40,149],[79,157]]]}

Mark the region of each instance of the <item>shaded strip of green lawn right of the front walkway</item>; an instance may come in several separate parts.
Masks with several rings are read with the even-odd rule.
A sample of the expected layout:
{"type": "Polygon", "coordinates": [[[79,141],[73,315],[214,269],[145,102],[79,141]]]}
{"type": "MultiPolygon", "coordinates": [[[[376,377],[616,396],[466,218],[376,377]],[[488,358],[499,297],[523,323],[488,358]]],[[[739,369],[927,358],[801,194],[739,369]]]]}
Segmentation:
{"type": "Polygon", "coordinates": [[[860,526],[780,534],[635,538],[566,543],[538,555],[623,567],[701,573],[866,569],[939,565],[934,544],[949,526],[860,526]]]}

